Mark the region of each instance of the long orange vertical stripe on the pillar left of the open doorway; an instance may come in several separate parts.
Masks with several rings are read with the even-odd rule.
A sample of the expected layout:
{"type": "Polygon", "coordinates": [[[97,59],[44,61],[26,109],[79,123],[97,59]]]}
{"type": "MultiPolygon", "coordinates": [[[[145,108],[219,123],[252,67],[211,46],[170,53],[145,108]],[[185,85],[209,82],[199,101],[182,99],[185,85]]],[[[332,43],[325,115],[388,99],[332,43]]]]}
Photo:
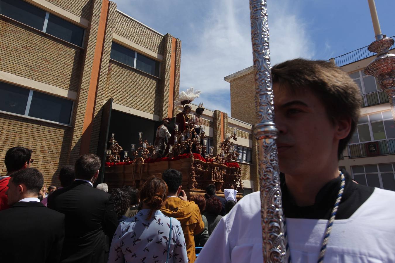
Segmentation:
{"type": "Polygon", "coordinates": [[[92,73],[90,75],[89,90],[87,107],[85,110],[84,126],[81,136],[81,148],[80,154],[83,155],[89,152],[90,137],[92,134],[92,121],[94,118],[94,108],[96,103],[96,93],[98,89],[100,66],[102,62],[103,47],[104,47],[104,36],[107,26],[107,18],[109,11],[109,0],[103,0],[102,10],[100,11],[100,21],[98,34],[96,38],[96,47],[93,57],[92,73]]]}

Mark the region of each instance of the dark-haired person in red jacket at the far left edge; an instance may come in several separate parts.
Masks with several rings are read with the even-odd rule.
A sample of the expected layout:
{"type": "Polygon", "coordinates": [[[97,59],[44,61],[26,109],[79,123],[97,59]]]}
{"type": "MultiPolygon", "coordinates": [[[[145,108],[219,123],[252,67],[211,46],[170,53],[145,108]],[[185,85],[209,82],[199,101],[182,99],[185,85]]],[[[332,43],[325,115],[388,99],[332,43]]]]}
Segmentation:
{"type": "Polygon", "coordinates": [[[4,164],[6,164],[7,174],[0,176],[0,211],[9,208],[8,196],[8,181],[11,179],[12,173],[30,168],[30,164],[34,161],[32,159],[32,150],[25,147],[17,146],[8,149],[4,164]]]}

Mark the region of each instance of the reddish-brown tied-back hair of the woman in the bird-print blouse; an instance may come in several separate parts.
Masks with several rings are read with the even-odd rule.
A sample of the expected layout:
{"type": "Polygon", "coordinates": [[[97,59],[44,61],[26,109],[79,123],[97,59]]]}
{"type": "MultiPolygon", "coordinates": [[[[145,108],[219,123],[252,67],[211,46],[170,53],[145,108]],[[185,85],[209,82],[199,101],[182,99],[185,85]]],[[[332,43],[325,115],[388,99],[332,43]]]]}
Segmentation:
{"type": "Polygon", "coordinates": [[[151,209],[147,219],[152,216],[154,210],[162,207],[168,193],[165,181],[158,177],[151,177],[143,184],[140,190],[140,200],[151,209]]]}

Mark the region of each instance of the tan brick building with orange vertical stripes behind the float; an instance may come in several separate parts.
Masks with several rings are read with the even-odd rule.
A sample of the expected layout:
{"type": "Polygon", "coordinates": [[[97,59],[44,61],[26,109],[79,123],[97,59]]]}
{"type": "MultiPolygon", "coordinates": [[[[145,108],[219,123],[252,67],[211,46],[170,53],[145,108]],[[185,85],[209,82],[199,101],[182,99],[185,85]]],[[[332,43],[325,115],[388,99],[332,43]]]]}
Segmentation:
{"type": "MultiPolygon", "coordinates": [[[[32,149],[45,185],[59,185],[60,168],[79,155],[102,155],[109,133],[130,150],[137,132],[152,143],[161,120],[179,112],[180,39],[115,2],[0,0],[0,23],[0,159],[16,145],[32,149]]],[[[251,125],[218,110],[204,117],[216,146],[237,127],[252,188],[251,125]]]]}

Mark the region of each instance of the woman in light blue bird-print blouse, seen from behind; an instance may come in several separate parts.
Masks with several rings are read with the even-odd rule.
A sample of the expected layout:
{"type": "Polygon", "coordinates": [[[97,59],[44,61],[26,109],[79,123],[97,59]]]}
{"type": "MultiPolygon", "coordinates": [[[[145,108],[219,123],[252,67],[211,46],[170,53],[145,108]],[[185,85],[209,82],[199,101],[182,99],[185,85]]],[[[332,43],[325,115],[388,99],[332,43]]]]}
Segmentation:
{"type": "Polygon", "coordinates": [[[144,183],[140,191],[143,209],[119,224],[109,263],[188,262],[180,222],[159,210],[167,194],[167,185],[160,178],[152,177],[144,183]]]}

